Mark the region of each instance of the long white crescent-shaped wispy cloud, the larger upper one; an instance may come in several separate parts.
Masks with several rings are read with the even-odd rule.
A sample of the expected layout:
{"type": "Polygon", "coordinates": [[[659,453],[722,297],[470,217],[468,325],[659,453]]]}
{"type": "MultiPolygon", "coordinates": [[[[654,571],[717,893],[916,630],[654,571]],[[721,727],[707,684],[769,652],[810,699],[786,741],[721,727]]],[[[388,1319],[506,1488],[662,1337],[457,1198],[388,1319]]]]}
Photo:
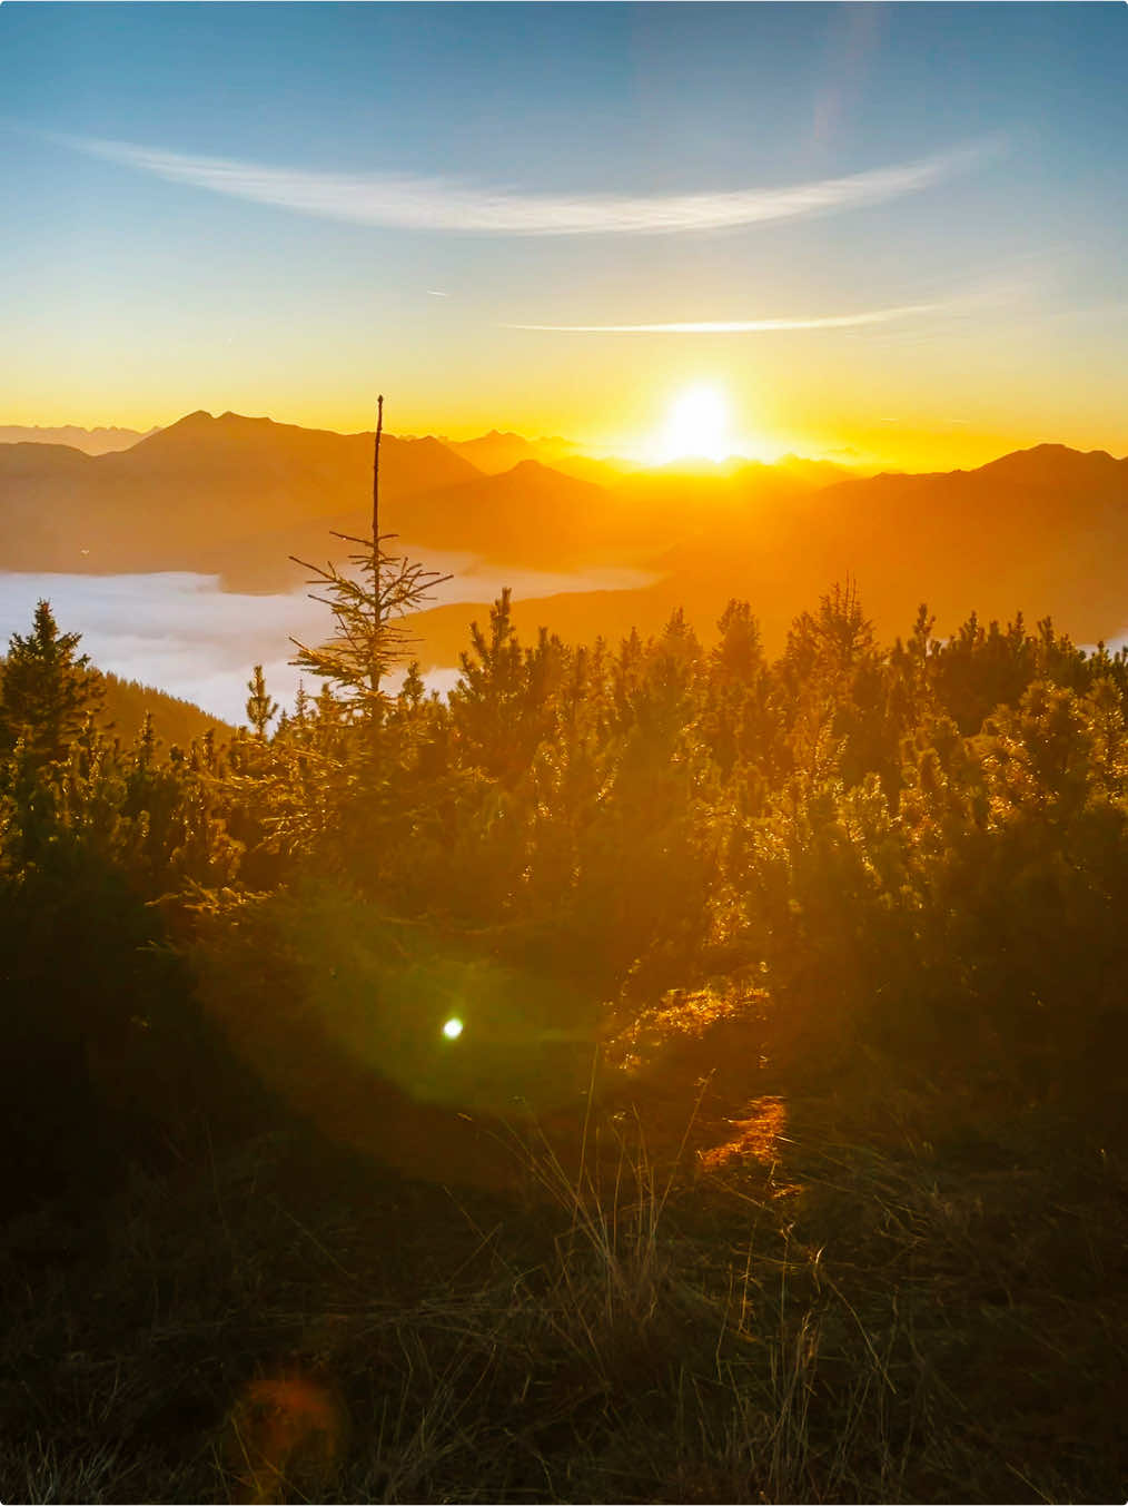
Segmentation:
{"type": "Polygon", "coordinates": [[[998,154],[1001,142],[962,146],[895,167],[771,188],[685,194],[545,194],[404,173],[348,175],[164,152],[128,142],[56,136],[90,157],[169,182],[277,205],[300,214],[405,230],[498,235],[654,235],[721,230],[884,203],[920,193],[998,154]]]}

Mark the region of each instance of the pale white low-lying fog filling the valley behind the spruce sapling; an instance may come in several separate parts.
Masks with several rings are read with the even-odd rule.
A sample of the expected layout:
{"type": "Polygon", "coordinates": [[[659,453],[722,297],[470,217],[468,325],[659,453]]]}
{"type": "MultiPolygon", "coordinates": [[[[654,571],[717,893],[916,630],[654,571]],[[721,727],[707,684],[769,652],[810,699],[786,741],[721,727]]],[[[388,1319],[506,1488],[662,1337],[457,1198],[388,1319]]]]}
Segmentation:
{"type": "MultiPolygon", "coordinates": [[[[559,592],[633,590],[654,577],[634,569],[593,569],[583,575],[542,571],[498,571],[465,554],[408,551],[428,569],[453,578],[431,595],[432,605],[492,601],[503,586],[515,598],[559,592]]],[[[65,633],[81,633],[81,649],[104,670],[139,679],[194,700],[224,721],[244,721],[247,681],[262,664],[267,687],[289,706],[298,673],[288,663],[291,637],[315,643],[327,637],[328,607],[303,592],[241,595],[220,589],[217,575],[170,571],[157,575],[54,575],[0,572],[0,652],[12,633],[26,634],[41,598],[47,598],[65,633]]],[[[467,610],[467,642],[470,617],[467,610]]],[[[458,672],[435,669],[432,690],[446,691],[458,672]]],[[[307,684],[316,693],[319,687],[307,684]]]]}

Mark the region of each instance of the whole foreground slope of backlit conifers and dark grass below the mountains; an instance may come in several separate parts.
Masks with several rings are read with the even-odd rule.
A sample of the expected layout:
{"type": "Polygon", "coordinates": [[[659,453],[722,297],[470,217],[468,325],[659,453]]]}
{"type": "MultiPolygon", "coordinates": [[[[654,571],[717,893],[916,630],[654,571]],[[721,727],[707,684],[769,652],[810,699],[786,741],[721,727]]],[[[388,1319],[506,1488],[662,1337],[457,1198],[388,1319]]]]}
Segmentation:
{"type": "Polygon", "coordinates": [[[140,1221],[107,1214],[113,1270],[81,1268],[74,1310],[47,1279],[11,1283],[32,1337],[5,1399],[33,1480],[12,1476],[12,1497],[87,1498],[98,1470],[102,1498],[169,1488],[164,1453],[148,1494],[122,1474],[157,1408],[145,1366],[196,1375],[223,1331],[206,1425],[176,1422],[179,1399],[146,1422],[220,1471],[185,1498],[616,1498],[623,1458],[637,1498],[1009,1498],[1015,1470],[1029,1498],[1105,1498],[1123,1473],[1125,655],[1048,622],[941,640],[925,608],[883,646],[848,584],[774,658],[745,602],[705,643],[676,613],[648,640],[527,645],[505,593],[446,700],[419,666],[395,690],[386,663],[375,682],[367,660],[322,676],[277,718],[256,670],[250,732],[166,747],[151,717],[105,730],[99,678],[47,604],[12,642],[9,1194],[69,1188],[90,1218],[92,1190],[160,1169],[140,1221]],[[813,1137],[827,1105],[866,1143],[813,1137]],[[709,1133],[687,1149],[697,1110],[709,1133]],[[316,1229],[259,1182],[277,1125],[300,1126],[328,1199],[316,1229]],[[1021,1163],[1024,1136],[1051,1160],[1021,1163]],[[514,1140],[563,1227],[544,1203],[515,1212],[514,1140]],[[670,1160],[690,1166],[678,1235],[670,1160]],[[355,1209],[387,1194],[348,1236],[340,1218],[366,1214],[333,1202],[345,1166],[355,1209]],[[441,1206],[419,1241],[426,1187],[441,1206]],[[449,1187],[511,1200],[464,1221],[449,1187]],[[482,1259],[500,1273],[465,1312],[441,1279],[428,1307],[452,1227],[470,1241],[453,1282],[473,1288],[482,1259]],[[404,1239],[419,1292],[386,1312],[404,1239]],[[529,1264],[524,1239],[550,1254],[529,1264]],[[123,1313],[136,1352],[99,1393],[123,1441],[98,1452],[74,1367],[104,1339],[74,1334],[116,1336],[123,1313]],[[42,1441],[26,1370],[74,1387],[96,1449],[42,1441]],[[1084,1384],[1110,1401],[1074,1422],[1062,1396],[1084,1384]],[[416,1425],[419,1387],[437,1410],[416,1425]],[[988,1411],[1001,1452],[982,1447],[988,1411]],[[432,1444],[435,1419],[453,1432],[432,1444]],[[502,1428],[544,1453],[497,1447],[502,1428]],[[482,1476],[511,1455],[532,1473],[482,1476]]]}

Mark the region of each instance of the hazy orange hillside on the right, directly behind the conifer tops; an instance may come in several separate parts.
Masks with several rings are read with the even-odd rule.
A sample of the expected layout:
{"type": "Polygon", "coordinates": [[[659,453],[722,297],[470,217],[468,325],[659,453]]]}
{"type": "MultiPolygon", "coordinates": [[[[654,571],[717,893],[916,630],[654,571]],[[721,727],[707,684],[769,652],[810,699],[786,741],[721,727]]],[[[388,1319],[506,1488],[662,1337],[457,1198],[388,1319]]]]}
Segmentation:
{"type": "Polygon", "coordinates": [[[854,575],[883,631],[904,631],[926,593],[941,630],[973,610],[1050,613],[1084,642],[1128,623],[1128,461],[1038,446],[973,471],[845,480],[703,533],[660,562],[687,599],[744,580],[783,631],[795,593],[854,575]]]}

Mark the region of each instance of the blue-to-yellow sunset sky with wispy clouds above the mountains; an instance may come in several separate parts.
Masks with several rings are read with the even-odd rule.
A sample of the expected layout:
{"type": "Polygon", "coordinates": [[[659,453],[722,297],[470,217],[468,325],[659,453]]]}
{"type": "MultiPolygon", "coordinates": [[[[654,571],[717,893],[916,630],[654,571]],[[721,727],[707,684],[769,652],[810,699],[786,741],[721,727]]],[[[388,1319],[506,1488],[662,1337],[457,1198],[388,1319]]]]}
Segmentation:
{"type": "Polygon", "coordinates": [[[1123,455],[1125,142],[1120,3],[8,0],[0,423],[1123,455]]]}

